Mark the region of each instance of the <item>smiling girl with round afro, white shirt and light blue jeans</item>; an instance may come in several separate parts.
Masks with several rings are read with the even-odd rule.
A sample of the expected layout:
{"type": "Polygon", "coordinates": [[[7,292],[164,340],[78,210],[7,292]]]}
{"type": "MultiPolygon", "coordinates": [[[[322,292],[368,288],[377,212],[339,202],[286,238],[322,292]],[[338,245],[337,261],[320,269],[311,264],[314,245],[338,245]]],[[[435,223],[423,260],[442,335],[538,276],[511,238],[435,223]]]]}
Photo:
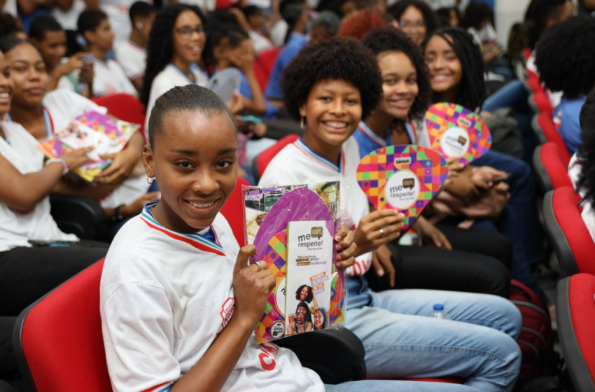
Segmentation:
{"type": "MultiPolygon", "coordinates": [[[[514,340],[521,318],[508,300],[440,290],[374,293],[367,287],[372,252],[400,236],[405,218],[395,210],[370,213],[356,178],[360,155],[351,136],[382,97],[381,73],[372,52],[348,38],[308,45],[283,72],[281,88],[288,113],[304,124],[304,135],[277,153],[259,186],[326,181],[350,186],[344,208],[357,257],[346,270],[351,279],[345,326],[363,341],[367,377],[464,374],[465,386],[384,382],[395,391],[511,391],[521,360],[514,340]],[[454,321],[427,317],[437,298],[449,304],[454,321]]],[[[345,188],[341,194],[346,195],[345,188]]]]}

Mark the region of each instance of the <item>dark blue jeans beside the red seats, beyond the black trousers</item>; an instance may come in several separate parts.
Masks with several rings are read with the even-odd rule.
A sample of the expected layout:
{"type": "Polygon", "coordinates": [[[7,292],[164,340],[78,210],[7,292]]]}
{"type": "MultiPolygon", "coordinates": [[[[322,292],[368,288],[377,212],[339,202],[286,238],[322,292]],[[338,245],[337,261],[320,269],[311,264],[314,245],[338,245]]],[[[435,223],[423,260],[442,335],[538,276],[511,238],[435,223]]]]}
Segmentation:
{"type": "MultiPolygon", "coordinates": [[[[531,271],[531,264],[545,258],[543,230],[537,214],[535,179],[531,167],[524,161],[497,151],[488,151],[482,158],[473,161],[472,165],[491,166],[512,173],[512,178],[507,181],[511,197],[496,226],[512,241],[512,279],[525,283],[545,298],[545,293],[531,271]]],[[[494,225],[491,221],[478,221],[473,227],[493,230],[494,225]]]]}

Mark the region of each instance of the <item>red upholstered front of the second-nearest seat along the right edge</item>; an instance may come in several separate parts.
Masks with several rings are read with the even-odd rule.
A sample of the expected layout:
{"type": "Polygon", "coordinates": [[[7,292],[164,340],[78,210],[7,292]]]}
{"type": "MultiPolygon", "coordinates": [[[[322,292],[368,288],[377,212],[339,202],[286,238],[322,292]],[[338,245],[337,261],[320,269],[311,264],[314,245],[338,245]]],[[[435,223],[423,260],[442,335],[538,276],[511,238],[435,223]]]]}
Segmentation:
{"type": "Polygon", "coordinates": [[[573,188],[555,189],[552,210],[556,223],[568,241],[579,272],[595,275],[595,243],[580,216],[580,200],[580,195],[573,188]]]}

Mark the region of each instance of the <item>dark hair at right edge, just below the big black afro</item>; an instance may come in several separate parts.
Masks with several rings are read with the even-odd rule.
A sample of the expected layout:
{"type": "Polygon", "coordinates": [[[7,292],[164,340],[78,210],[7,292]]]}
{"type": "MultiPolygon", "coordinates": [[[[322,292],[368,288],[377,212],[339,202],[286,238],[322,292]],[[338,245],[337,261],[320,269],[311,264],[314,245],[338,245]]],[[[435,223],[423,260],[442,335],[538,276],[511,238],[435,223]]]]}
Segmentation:
{"type": "Polygon", "coordinates": [[[593,204],[595,203],[595,89],[589,93],[580,109],[580,129],[582,144],[579,153],[582,158],[582,169],[578,188],[584,189],[585,199],[593,204]]]}

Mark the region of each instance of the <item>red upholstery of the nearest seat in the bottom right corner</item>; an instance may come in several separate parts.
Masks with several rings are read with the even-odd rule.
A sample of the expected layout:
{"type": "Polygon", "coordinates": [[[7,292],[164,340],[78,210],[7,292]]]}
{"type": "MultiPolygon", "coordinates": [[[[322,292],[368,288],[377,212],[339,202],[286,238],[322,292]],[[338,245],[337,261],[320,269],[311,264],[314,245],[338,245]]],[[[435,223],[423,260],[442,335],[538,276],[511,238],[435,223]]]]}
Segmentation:
{"type": "MultiPolygon", "coordinates": [[[[570,277],[568,297],[578,347],[595,380],[595,276],[576,274],[570,277]]],[[[568,361],[568,360],[567,360],[568,361]]],[[[568,364],[570,365],[570,363],[568,364]]],[[[583,375],[584,377],[584,375],[583,375]]],[[[592,381],[591,381],[592,382],[592,381]]]]}

